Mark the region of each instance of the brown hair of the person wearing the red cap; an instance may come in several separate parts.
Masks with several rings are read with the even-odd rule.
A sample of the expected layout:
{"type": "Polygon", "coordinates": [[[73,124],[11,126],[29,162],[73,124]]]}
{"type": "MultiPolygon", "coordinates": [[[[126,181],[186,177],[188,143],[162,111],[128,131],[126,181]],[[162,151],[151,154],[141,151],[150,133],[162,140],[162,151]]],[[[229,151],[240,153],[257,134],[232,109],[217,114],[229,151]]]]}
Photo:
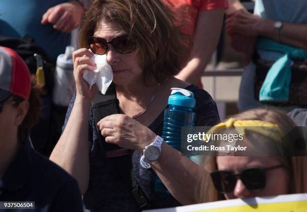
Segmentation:
{"type": "MultiPolygon", "coordinates": [[[[43,94],[43,89],[41,86],[36,84],[35,77],[32,76],[31,80],[31,92],[29,96],[29,110],[26,114],[21,125],[18,126],[18,141],[22,142],[27,135],[27,131],[31,129],[40,119],[43,103],[40,95],[43,94]]],[[[14,101],[22,102],[22,99],[19,96],[13,96],[14,101]]]]}

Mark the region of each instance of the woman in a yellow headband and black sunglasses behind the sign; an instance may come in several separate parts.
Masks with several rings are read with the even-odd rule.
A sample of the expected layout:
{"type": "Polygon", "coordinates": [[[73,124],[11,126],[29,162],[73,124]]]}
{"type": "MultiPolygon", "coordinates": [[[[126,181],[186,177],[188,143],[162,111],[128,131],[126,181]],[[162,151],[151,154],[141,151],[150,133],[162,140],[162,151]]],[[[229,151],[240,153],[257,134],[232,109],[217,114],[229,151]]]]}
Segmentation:
{"type": "Polygon", "coordinates": [[[285,113],[252,109],[233,116],[208,132],[238,133],[237,129],[230,129],[238,126],[237,129],[245,129],[241,143],[252,149],[241,153],[245,156],[204,159],[203,165],[210,176],[204,176],[202,187],[209,188],[210,192],[208,195],[208,189],[201,191],[201,201],[307,192],[306,147],[302,145],[299,149],[295,145],[303,136],[285,113]],[[285,138],[282,142],[286,142],[282,144],[282,151],[278,149],[280,138],[285,138]]]}

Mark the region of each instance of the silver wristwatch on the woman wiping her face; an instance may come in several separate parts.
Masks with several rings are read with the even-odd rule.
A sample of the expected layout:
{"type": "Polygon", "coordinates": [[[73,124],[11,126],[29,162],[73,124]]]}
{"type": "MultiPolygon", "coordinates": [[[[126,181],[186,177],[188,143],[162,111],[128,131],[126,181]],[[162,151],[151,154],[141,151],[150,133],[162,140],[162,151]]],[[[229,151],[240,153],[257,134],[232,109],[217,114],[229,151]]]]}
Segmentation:
{"type": "Polygon", "coordinates": [[[155,160],[158,160],[161,152],[162,143],[163,138],[157,135],[154,142],[144,147],[143,155],[140,158],[140,164],[143,168],[151,168],[150,163],[155,160]]]}

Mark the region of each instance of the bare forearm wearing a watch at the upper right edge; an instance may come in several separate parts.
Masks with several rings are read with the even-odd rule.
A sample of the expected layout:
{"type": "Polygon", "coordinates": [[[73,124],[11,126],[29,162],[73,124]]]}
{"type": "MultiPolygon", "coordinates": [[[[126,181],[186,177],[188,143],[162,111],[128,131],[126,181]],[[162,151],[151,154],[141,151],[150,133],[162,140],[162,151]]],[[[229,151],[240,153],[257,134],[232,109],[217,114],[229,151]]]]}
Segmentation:
{"type": "MultiPolygon", "coordinates": [[[[278,41],[278,33],[274,29],[275,22],[274,20],[261,19],[258,34],[278,41]]],[[[306,34],[307,24],[282,23],[280,42],[290,46],[307,49],[306,34]]]]}

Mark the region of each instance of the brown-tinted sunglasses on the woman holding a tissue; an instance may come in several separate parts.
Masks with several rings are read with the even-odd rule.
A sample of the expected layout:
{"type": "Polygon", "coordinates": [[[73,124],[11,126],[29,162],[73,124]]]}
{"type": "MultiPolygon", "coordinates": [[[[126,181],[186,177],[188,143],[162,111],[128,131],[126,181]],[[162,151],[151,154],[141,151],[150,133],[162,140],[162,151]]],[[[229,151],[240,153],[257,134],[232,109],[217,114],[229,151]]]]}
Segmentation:
{"type": "Polygon", "coordinates": [[[89,37],[87,39],[91,51],[97,55],[104,55],[108,51],[108,44],[111,44],[116,52],[128,54],[136,49],[136,42],[129,40],[128,35],[122,35],[106,41],[103,38],[89,37]]]}

